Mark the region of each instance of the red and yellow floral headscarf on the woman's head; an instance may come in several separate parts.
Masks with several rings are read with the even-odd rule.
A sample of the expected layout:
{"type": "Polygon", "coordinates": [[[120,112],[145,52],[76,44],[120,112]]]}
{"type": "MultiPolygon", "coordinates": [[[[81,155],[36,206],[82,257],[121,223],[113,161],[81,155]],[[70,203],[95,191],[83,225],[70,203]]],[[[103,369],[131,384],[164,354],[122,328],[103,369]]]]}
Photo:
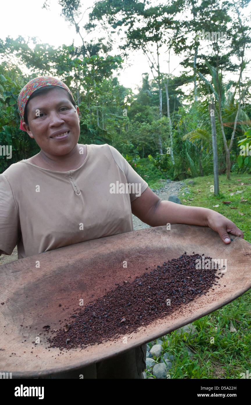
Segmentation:
{"type": "MultiPolygon", "coordinates": [[[[55,79],[54,77],[49,77],[49,76],[41,76],[41,77],[35,77],[35,79],[30,80],[21,90],[19,93],[18,99],[17,99],[17,107],[19,111],[19,115],[21,117],[20,121],[20,128],[21,130],[24,131],[22,122],[24,122],[24,109],[27,101],[29,100],[30,96],[32,93],[35,92],[35,90],[40,89],[40,87],[44,86],[58,86],[62,87],[63,89],[67,90],[68,93],[71,94],[72,92],[70,89],[67,87],[65,83],[63,83],[59,79],[55,79]]],[[[72,96],[73,98],[73,96],[72,96]]],[[[73,98],[74,99],[74,98],[73,98]]]]}

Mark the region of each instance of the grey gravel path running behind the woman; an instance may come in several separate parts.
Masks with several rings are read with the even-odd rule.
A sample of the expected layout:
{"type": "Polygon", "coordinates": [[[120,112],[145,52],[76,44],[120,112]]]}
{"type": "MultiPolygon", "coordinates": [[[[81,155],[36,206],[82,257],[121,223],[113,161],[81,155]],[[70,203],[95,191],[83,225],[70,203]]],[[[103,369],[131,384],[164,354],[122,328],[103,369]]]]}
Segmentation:
{"type": "MultiPolygon", "coordinates": [[[[170,181],[167,182],[165,180],[162,181],[162,187],[158,190],[155,190],[154,193],[161,199],[161,200],[168,200],[168,197],[171,195],[177,195],[179,190],[181,190],[182,181],[170,181]]],[[[145,224],[139,218],[135,217],[133,215],[133,229],[134,230],[139,230],[139,229],[144,229],[144,228],[151,228],[149,225],[145,224]]],[[[6,264],[9,262],[13,262],[17,260],[17,247],[13,250],[12,254],[10,256],[8,255],[2,255],[0,256],[0,265],[1,264],[6,264]]]]}

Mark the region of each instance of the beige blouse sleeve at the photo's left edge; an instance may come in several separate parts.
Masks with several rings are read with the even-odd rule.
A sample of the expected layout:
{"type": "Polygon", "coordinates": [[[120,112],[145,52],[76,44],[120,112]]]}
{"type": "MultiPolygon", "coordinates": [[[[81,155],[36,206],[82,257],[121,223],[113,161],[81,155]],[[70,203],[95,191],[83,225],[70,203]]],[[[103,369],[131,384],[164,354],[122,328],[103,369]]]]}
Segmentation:
{"type": "Polygon", "coordinates": [[[0,250],[11,255],[19,240],[19,215],[6,177],[0,175],[0,250]]]}

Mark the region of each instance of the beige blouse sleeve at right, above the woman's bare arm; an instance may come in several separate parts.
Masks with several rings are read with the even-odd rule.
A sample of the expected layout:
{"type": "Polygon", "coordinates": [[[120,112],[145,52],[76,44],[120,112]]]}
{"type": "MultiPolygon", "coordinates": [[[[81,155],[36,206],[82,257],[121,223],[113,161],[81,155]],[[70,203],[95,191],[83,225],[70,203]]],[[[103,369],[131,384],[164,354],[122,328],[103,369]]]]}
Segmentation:
{"type": "Polygon", "coordinates": [[[133,170],[132,166],[127,162],[127,160],[121,155],[121,153],[115,149],[113,146],[109,145],[112,152],[112,156],[127,178],[127,183],[131,190],[130,200],[131,203],[136,200],[137,197],[140,197],[141,194],[148,188],[148,183],[138,175],[138,173],[133,170]]]}

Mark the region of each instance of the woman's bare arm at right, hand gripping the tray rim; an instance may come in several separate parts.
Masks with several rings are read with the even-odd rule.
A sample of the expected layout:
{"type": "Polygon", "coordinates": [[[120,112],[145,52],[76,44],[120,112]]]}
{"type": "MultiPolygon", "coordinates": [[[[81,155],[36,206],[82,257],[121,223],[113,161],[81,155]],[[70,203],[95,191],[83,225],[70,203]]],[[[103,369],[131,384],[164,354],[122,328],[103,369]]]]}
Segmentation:
{"type": "Polygon", "coordinates": [[[243,238],[243,232],[224,215],[209,208],[162,201],[149,187],[131,203],[131,209],[136,217],[150,226],[167,223],[209,226],[226,244],[230,243],[228,232],[243,238]]]}

